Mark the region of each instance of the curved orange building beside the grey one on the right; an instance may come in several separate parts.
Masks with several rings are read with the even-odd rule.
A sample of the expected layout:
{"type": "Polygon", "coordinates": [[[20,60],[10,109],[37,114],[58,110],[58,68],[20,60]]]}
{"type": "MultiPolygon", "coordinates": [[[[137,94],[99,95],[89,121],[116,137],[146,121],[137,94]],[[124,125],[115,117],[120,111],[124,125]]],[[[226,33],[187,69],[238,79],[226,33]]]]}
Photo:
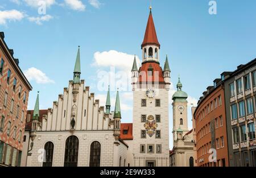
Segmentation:
{"type": "Polygon", "coordinates": [[[224,83],[220,78],[213,82],[214,86],[208,86],[200,98],[193,117],[200,167],[229,166],[224,83]]]}

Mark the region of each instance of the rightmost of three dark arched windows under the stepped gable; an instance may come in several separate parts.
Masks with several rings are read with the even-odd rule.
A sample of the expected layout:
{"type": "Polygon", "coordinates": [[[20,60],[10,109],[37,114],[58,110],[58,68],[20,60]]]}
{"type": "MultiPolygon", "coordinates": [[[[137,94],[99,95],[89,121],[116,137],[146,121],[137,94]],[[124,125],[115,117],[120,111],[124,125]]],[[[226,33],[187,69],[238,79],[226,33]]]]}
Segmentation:
{"type": "Polygon", "coordinates": [[[101,144],[93,142],[90,144],[90,167],[100,167],[101,164],[101,144]]]}

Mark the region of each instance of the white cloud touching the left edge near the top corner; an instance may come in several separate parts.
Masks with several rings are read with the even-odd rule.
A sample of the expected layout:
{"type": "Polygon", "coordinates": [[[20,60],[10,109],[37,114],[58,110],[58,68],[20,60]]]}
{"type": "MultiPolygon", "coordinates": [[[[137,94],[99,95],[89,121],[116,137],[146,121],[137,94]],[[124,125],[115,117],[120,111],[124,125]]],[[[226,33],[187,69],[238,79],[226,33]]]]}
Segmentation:
{"type": "Polygon", "coordinates": [[[0,24],[6,24],[6,21],[22,20],[24,14],[18,10],[0,11],[0,24]]]}

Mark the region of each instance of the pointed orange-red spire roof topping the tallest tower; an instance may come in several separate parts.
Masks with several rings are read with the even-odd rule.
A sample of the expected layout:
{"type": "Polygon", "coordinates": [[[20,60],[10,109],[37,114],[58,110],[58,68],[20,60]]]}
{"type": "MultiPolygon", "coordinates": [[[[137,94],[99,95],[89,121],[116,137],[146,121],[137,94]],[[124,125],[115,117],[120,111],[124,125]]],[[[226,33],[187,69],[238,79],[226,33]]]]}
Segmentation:
{"type": "Polygon", "coordinates": [[[158,45],[160,48],[160,43],[158,42],[158,36],[156,35],[155,24],[154,24],[151,10],[150,10],[150,15],[148,16],[147,28],[145,31],[144,40],[141,47],[144,47],[147,44],[155,44],[155,45],[158,45]]]}

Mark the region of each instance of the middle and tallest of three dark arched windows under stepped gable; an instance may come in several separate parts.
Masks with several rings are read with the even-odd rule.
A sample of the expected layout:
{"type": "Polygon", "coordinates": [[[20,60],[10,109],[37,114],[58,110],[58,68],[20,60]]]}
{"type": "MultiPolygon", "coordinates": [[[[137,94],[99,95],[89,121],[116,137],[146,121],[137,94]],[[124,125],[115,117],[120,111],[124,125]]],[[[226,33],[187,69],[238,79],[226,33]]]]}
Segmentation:
{"type": "Polygon", "coordinates": [[[72,135],[66,140],[64,167],[77,167],[79,139],[72,135]]]}

